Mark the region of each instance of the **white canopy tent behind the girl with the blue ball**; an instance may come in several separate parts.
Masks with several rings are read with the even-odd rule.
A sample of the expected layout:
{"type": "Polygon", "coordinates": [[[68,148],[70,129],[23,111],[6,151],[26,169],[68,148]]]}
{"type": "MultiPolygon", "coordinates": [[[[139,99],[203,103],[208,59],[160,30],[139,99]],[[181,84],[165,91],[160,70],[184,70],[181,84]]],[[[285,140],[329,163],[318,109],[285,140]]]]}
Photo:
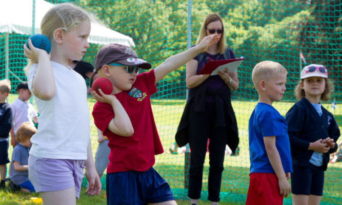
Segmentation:
{"type": "MultiPolygon", "coordinates": [[[[41,33],[40,26],[44,14],[53,6],[44,0],[1,0],[0,33],[18,33],[32,35],[41,33]],[[35,9],[33,12],[33,2],[35,9]],[[34,22],[33,22],[34,20],[34,22]],[[34,23],[34,26],[33,26],[34,23]],[[33,29],[34,28],[34,29],[33,29]]],[[[6,35],[7,36],[7,35],[6,35]]],[[[127,35],[111,30],[98,23],[91,24],[89,43],[106,45],[119,43],[134,47],[127,35]]],[[[8,39],[6,39],[6,77],[8,78],[8,39]]]]}

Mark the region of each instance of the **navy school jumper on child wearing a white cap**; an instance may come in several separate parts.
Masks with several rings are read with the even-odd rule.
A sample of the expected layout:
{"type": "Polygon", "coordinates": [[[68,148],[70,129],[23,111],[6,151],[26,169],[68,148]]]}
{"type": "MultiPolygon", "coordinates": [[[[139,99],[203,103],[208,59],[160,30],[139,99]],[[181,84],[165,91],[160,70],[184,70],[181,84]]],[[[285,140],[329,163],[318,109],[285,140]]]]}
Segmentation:
{"type": "MultiPolygon", "coordinates": [[[[316,109],[308,99],[302,98],[296,102],[286,114],[288,133],[291,146],[292,163],[298,166],[307,166],[313,154],[308,150],[310,142],[330,137],[337,141],[340,136],[339,128],[333,115],[323,106],[322,115],[319,116],[316,109]]],[[[322,169],[327,170],[331,153],[336,152],[337,144],[324,154],[322,169]]]]}

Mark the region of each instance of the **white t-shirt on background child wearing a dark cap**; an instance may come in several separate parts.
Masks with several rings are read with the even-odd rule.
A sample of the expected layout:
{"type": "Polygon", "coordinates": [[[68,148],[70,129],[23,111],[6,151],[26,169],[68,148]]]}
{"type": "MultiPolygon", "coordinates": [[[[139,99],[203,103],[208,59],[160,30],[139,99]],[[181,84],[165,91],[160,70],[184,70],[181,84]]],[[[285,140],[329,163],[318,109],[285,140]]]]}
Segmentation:
{"type": "Polygon", "coordinates": [[[12,103],[12,113],[13,113],[13,131],[16,135],[16,131],[23,122],[30,122],[32,125],[32,119],[37,117],[37,112],[35,111],[33,105],[29,102],[24,102],[16,98],[12,103]]]}

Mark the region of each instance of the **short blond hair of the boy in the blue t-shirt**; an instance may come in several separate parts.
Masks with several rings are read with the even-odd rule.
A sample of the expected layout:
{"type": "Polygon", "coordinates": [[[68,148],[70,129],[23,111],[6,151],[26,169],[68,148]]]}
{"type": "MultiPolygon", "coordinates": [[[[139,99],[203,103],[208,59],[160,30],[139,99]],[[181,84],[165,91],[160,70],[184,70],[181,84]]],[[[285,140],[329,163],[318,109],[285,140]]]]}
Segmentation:
{"type": "Polygon", "coordinates": [[[255,89],[259,91],[259,82],[262,80],[267,82],[275,73],[287,74],[287,70],[280,63],[274,61],[262,61],[256,64],[252,71],[252,81],[255,89]]]}

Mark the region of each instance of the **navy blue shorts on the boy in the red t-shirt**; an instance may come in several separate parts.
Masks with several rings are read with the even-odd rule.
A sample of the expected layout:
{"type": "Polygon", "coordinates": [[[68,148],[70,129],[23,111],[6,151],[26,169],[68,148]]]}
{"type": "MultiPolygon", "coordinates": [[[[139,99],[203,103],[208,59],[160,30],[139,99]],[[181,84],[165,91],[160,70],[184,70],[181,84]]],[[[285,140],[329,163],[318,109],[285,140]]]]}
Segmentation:
{"type": "Polygon", "coordinates": [[[169,184],[151,167],[145,172],[107,173],[107,204],[147,204],[174,200],[169,184]]]}

